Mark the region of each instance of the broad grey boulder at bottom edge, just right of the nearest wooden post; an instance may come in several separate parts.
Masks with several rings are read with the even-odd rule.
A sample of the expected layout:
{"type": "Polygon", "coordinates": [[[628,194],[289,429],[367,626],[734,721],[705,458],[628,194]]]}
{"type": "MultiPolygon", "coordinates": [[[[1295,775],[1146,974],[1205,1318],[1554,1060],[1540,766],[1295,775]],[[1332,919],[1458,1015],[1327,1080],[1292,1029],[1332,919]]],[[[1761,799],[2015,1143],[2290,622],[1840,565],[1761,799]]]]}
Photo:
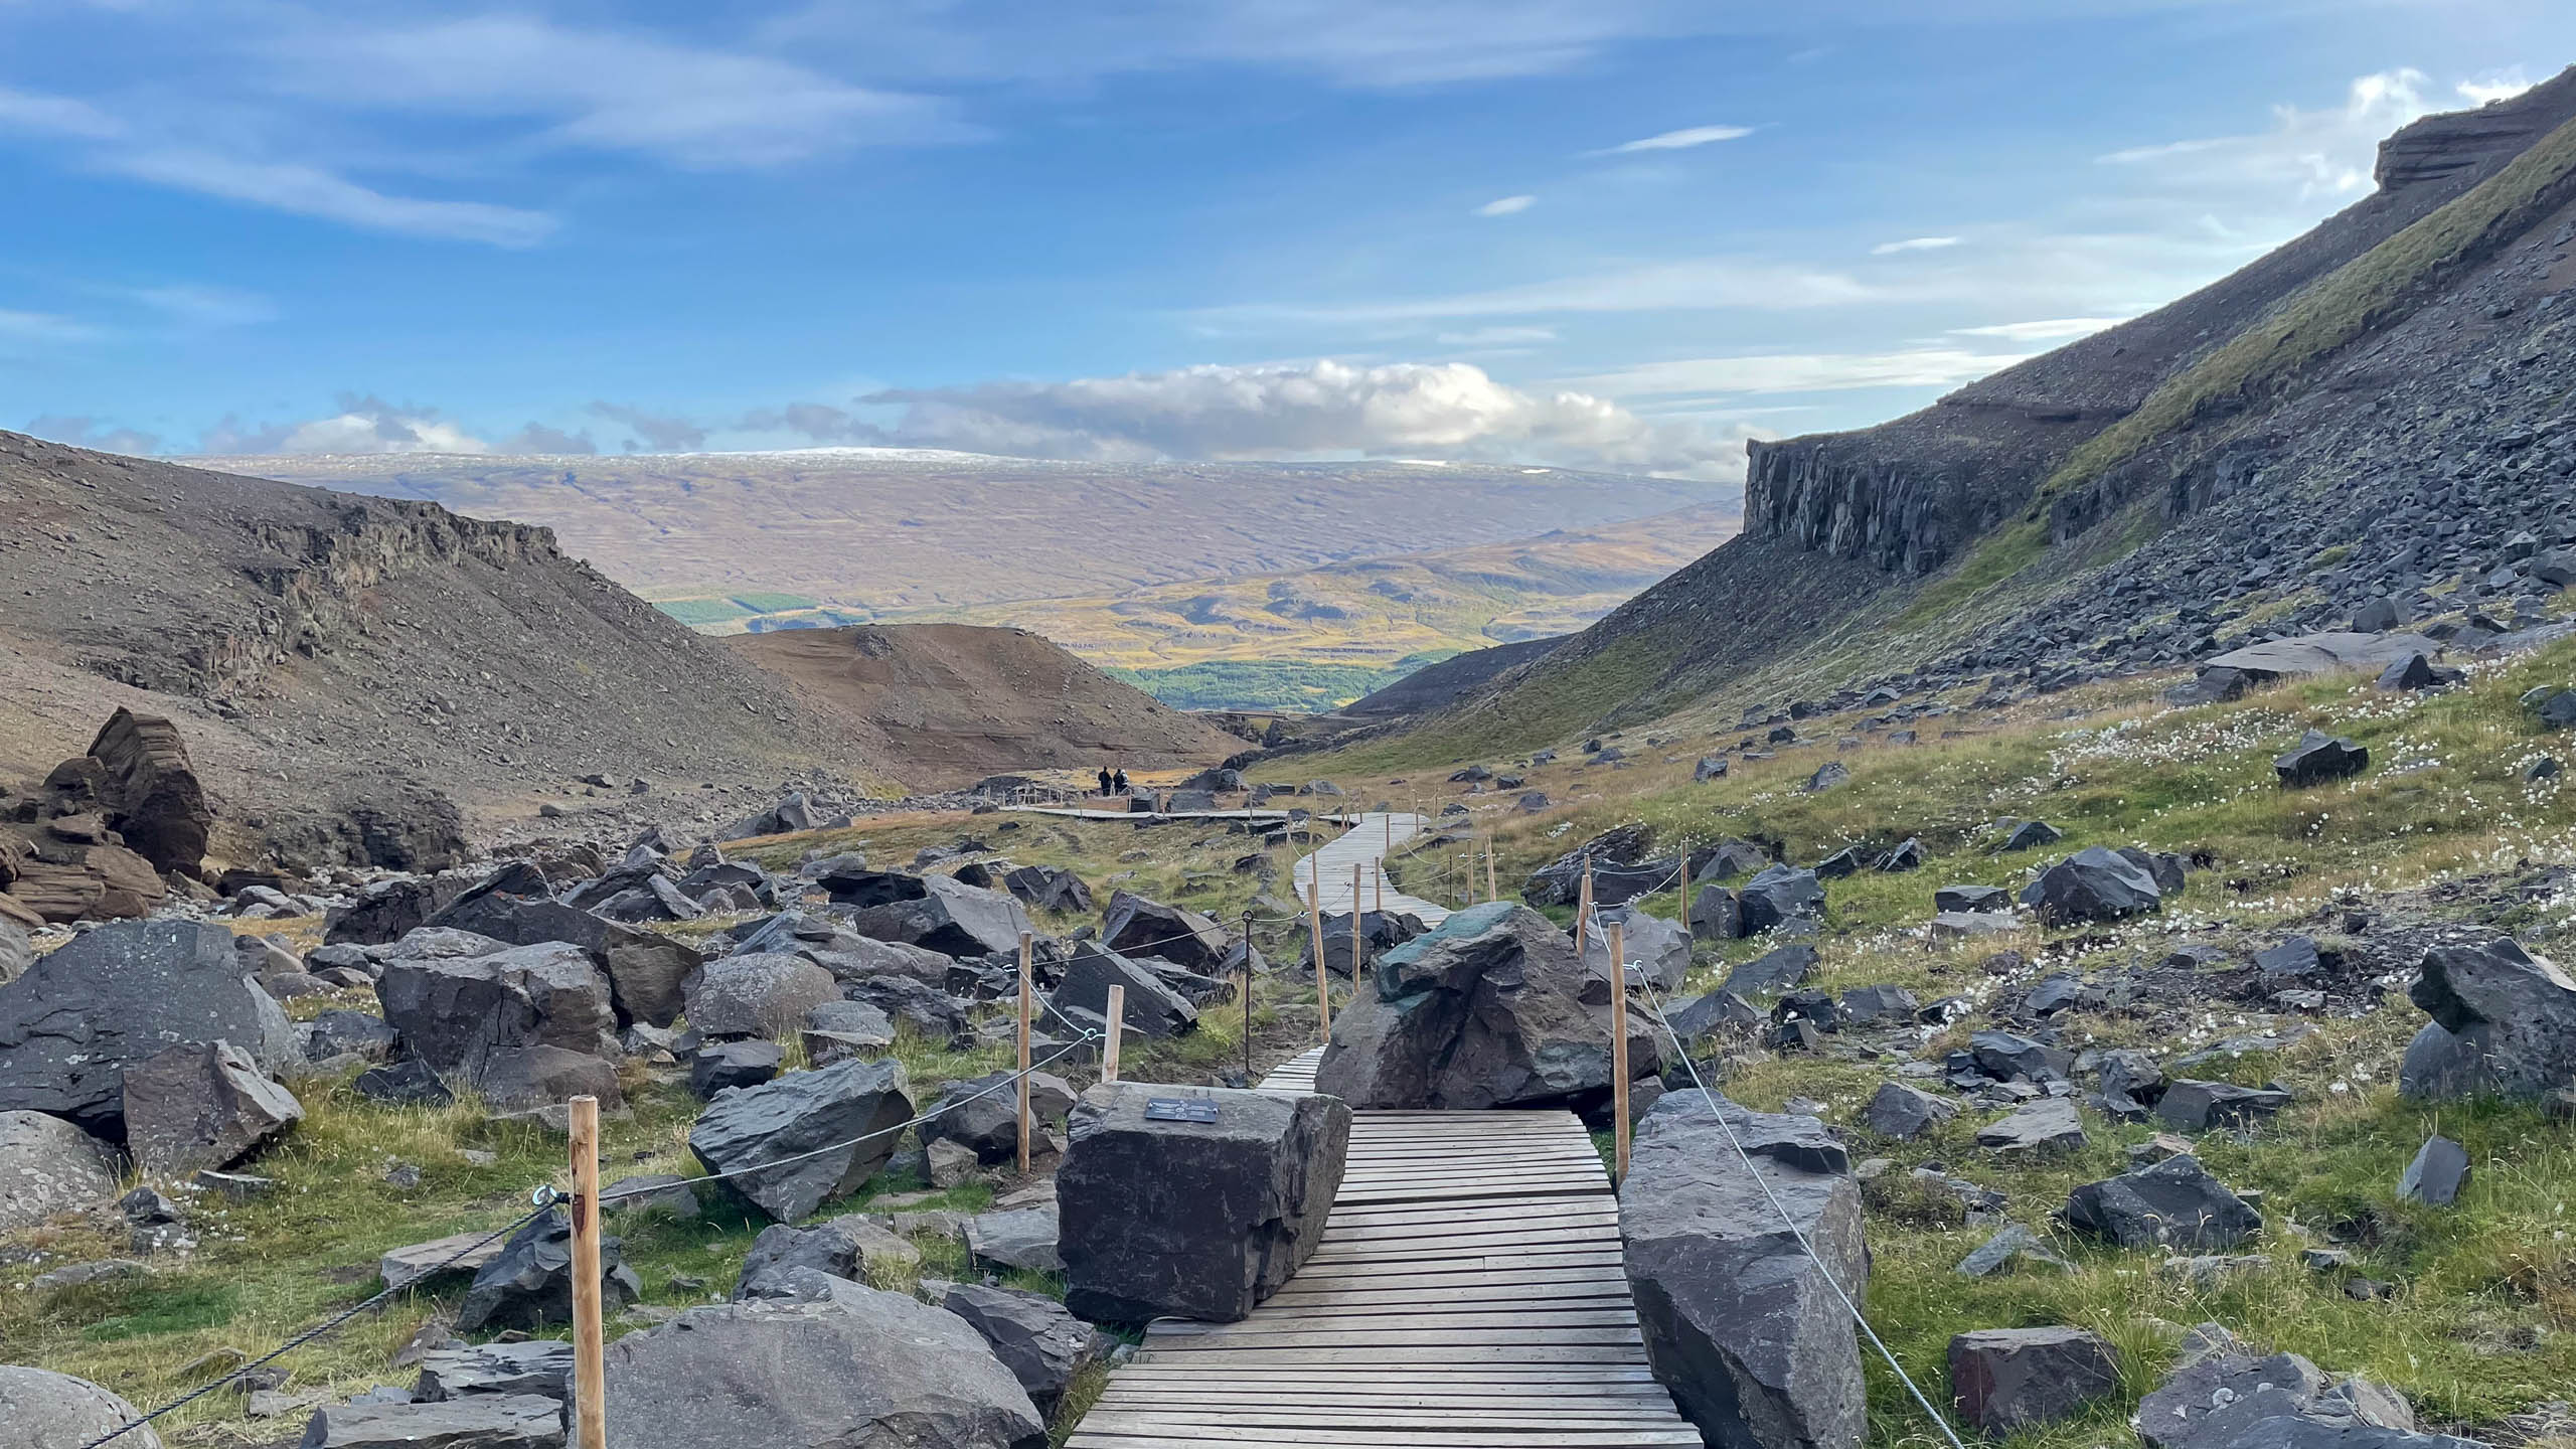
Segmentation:
{"type": "Polygon", "coordinates": [[[608,1449],[1046,1449],[984,1338],[907,1294],[693,1307],[608,1348],[608,1449]]]}

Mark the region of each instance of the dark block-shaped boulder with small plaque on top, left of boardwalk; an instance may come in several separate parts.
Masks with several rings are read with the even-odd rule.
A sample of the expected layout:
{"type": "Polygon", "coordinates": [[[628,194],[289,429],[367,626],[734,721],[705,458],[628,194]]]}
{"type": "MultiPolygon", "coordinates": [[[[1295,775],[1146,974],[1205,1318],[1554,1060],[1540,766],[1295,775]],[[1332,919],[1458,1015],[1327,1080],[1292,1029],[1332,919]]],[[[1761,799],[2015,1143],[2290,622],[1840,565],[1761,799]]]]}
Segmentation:
{"type": "Polygon", "coordinates": [[[1056,1171],[1064,1305],[1082,1318],[1234,1323],[1314,1253],[1342,1191],[1350,1106],[1314,1093],[1103,1083],[1056,1171]],[[1159,1098],[1216,1122],[1146,1116],[1159,1098]]]}

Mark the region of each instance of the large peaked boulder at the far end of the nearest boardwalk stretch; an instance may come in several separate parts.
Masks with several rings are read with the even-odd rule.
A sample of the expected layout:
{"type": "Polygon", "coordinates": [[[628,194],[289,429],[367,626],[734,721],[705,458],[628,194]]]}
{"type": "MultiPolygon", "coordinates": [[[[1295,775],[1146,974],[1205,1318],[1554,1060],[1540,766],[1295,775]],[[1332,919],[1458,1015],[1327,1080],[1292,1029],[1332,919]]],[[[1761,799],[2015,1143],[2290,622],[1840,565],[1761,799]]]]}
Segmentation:
{"type": "MultiPolygon", "coordinates": [[[[1546,915],[1471,905],[1378,957],[1332,1016],[1316,1091],[1360,1109],[1597,1104],[1610,1091],[1610,980],[1546,915]]],[[[1628,1062],[1659,1062],[1643,1011],[1628,1062]]]]}

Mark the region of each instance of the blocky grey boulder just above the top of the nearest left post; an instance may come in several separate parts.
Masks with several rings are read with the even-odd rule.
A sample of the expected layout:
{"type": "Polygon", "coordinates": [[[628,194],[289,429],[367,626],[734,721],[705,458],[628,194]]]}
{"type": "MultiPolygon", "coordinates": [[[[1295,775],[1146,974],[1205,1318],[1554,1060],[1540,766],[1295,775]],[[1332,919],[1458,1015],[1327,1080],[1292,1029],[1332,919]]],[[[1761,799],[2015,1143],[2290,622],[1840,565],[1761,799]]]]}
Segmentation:
{"type": "Polygon", "coordinates": [[[608,977],[569,941],[489,957],[392,959],[376,980],[376,1000],[412,1060],[471,1083],[528,1047],[616,1055],[608,977]]]}

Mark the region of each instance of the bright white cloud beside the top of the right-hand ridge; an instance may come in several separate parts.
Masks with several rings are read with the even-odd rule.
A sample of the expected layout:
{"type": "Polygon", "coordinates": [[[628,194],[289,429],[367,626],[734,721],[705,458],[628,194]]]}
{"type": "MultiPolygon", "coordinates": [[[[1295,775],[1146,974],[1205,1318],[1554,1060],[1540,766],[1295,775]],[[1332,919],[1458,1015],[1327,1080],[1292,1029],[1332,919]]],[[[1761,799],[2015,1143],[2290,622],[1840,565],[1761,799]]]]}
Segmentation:
{"type": "Polygon", "coordinates": [[[2388,131],[2424,116],[2421,70],[2357,77],[2342,108],[2275,106],[2272,129],[2110,152],[2102,165],[2138,168],[2182,188],[2295,188],[2300,199],[2360,196],[2388,131]]]}

